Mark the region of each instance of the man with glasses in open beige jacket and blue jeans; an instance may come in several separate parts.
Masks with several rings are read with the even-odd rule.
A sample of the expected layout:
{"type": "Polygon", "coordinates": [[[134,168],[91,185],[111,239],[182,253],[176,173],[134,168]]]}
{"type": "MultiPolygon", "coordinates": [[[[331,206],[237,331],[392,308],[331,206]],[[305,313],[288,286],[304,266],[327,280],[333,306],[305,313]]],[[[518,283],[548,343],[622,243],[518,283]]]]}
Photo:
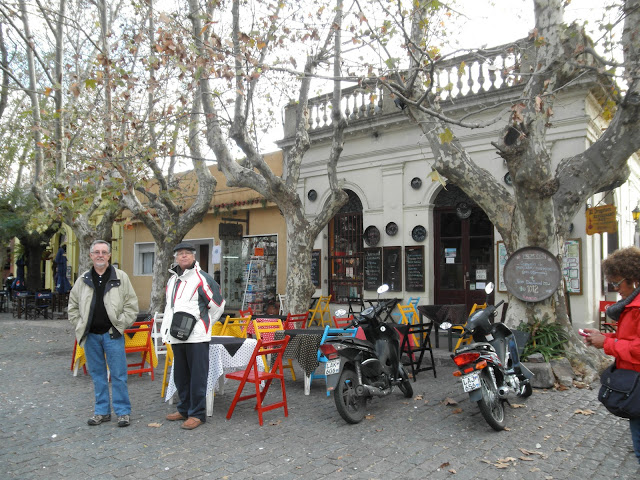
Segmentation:
{"type": "Polygon", "coordinates": [[[108,366],[113,410],[118,426],[127,427],[131,402],[122,334],[136,321],[138,297],[127,274],[109,265],[111,246],[106,241],[93,242],[89,255],[93,267],[78,278],[69,294],[69,321],[76,328],[78,345],[84,347],[95,392],[94,415],[87,423],[111,420],[108,366]]]}

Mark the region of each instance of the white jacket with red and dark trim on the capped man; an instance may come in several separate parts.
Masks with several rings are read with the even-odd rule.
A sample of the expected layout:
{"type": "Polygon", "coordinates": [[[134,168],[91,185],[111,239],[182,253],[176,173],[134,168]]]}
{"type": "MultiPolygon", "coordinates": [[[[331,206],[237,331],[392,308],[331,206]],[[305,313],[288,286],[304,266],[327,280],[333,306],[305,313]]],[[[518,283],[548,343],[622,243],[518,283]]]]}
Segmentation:
{"type": "Polygon", "coordinates": [[[171,277],[167,282],[162,340],[172,344],[208,343],[211,340],[211,326],[224,311],[225,302],[220,293],[220,285],[211,275],[200,269],[198,262],[184,271],[176,265],[170,268],[169,272],[171,277]],[[189,313],[199,320],[186,340],[178,340],[169,334],[174,312],[189,313]]]}

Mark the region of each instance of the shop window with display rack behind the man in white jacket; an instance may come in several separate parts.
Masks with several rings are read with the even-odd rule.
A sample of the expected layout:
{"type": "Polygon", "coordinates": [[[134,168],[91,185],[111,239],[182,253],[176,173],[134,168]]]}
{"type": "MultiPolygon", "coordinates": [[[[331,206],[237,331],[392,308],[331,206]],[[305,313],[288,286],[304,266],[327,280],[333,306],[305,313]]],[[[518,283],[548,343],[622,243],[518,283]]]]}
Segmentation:
{"type": "Polygon", "coordinates": [[[228,309],[266,313],[276,303],[278,236],[222,240],[220,281],[228,309]]]}

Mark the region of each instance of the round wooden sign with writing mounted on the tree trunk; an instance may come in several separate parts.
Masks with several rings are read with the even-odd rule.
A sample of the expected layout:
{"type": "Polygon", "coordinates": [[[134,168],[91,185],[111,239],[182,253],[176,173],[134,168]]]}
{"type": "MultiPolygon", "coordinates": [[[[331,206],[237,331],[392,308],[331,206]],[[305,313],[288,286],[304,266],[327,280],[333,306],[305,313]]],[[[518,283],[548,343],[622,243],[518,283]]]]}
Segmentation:
{"type": "Polygon", "coordinates": [[[507,290],[524,302],[546,300],[560,286],[558,259],[540,247],[524,247],[509,256],[504,265],[507,290]]]}

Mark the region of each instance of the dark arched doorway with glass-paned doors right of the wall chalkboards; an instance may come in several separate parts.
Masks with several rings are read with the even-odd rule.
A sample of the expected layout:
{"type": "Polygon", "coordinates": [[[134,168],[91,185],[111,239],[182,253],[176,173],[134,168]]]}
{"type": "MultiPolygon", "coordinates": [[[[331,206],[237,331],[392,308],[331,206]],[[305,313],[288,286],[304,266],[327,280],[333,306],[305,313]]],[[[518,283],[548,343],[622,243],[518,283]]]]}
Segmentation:
{"type": "Polygon", "coordinates": [[[474,303],[484,303],[484,286],[496,283],[493,224],[451,184],[436,197],[433,215],[435,303],[464,303],[469,311],[474,303]]]}

